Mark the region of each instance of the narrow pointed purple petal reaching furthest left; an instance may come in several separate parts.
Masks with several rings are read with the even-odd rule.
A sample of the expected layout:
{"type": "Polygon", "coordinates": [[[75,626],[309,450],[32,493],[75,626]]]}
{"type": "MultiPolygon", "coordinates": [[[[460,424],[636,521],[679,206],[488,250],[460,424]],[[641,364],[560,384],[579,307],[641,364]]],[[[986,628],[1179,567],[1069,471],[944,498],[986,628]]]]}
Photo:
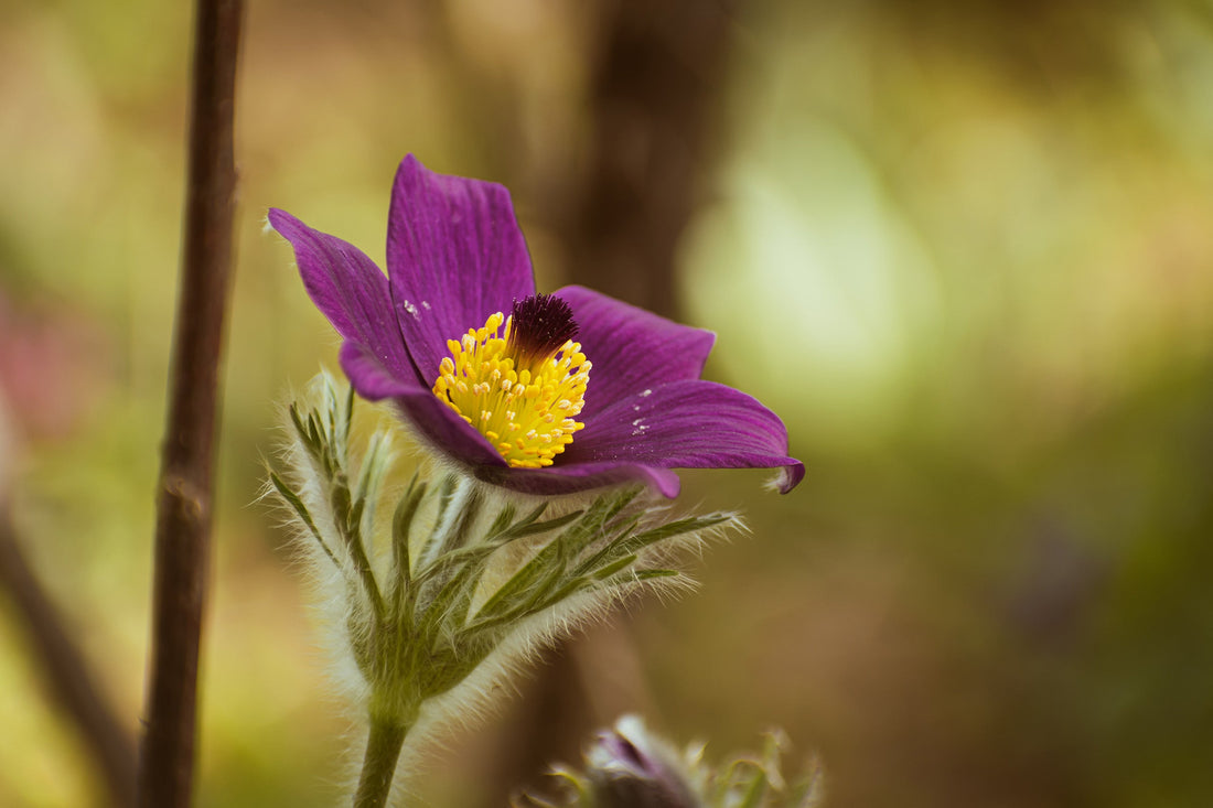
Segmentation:
{"type": "MultiPolygon", "coordinates": [[[[348,241],[314,231],[286,211],[270,209],[269,223],[295,247],[303,286],[337,334],[361,346],[387,376],[416,380],[392,312],[387,278],[375,262],[348,241]]],[[[357,375],[349,379],[360,393],[364,382],[370,383],[357,375]]]]}

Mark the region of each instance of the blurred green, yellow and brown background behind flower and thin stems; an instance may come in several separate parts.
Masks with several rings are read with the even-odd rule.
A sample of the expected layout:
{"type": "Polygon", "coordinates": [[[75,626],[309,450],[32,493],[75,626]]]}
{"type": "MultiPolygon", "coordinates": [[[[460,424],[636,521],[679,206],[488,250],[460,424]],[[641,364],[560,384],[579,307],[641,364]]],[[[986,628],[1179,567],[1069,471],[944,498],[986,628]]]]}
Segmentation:
{"type": "MultiPolygon", "coordinates": [[[[133,735],[190,11],[0,2],[0,479],[133,735]]],[[[828,804],[1213,804],[1213,6],[251,0],[198,803],[334,804],[349,732],[262,502],[336,340],[281,206],[383,254],[408,152],[513,192],[541,290],[718,332],[808,466],[688,473],[752,535],[435,756],[501,806],[642,709],[769,726],[828,804]]],[[[106,791],[0,592],[0,804],[106,791]]]]}

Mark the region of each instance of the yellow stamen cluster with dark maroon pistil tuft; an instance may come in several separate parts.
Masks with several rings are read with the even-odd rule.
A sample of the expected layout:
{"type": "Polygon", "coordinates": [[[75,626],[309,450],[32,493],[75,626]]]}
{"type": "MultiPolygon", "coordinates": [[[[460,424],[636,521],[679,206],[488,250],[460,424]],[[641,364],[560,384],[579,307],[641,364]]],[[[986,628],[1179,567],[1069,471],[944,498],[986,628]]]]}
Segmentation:
{"type": "Polygon", "coordinates": [[[574,342],[577,324],[559,297],[514,301],[509,317],[448,340],[434,394],[475,427],[514,468],[542,468],[585,427],[591,363],[574,342]],[[502,322],[505,334],[499,336],[502,322]]]}

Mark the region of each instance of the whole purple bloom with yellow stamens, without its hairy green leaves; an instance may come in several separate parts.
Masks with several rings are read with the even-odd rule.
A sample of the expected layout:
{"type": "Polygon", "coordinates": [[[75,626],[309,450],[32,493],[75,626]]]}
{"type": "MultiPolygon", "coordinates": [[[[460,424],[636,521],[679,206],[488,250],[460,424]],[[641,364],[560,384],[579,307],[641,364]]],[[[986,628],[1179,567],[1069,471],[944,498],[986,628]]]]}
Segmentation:
{"type": "Polygon", "coordinates": [[[359,396],[389,399],[420,438],[477,478],[535,495],[638,480],[678,494],[672,468],[804,465],[754,398],[701,380],[710,331],[582,286],[536,295],[501,186],[409,155],[388,212],[387,277],[358,247],[272,209],[313,302],[344,338],[359,396]]]}

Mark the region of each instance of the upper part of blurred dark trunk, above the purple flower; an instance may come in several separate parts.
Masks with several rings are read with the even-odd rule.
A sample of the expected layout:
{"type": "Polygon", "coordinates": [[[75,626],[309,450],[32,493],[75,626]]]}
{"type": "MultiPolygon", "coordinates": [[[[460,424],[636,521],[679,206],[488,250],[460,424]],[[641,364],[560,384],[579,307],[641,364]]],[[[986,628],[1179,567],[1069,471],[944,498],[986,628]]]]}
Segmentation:
{"type": "Polygon", "coordinates": [[[677,319],[676,251],[712,176],[738,5],[599,4],[586,167],[558,222],[571,283],[677,319]]]}

